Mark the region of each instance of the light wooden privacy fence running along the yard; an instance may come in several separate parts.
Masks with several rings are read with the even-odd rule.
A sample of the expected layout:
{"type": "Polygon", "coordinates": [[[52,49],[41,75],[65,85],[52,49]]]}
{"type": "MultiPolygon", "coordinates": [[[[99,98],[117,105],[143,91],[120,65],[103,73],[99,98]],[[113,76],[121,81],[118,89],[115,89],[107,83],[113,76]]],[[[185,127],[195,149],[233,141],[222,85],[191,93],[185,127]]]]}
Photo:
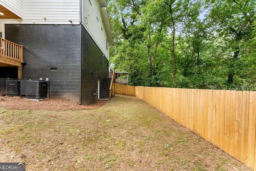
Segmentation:
{"type": "Polygon", "coordinates": [[[256,91],[115,85],[256,170],[256,91]]]}

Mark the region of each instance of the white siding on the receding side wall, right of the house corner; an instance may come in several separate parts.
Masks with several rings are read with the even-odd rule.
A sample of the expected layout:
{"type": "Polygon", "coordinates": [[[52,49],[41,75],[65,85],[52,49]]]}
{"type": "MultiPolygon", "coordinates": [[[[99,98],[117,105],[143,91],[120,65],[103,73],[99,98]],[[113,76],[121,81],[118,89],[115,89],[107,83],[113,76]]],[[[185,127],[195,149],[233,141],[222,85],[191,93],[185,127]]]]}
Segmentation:
{"type": "Polygon", "coordinates": [[[102,22],[100,2],[98,0],[82,0],[82,25],[109,60],[109,48],[106,49],[106,29],[102,22]],[[92,3],[92,6],[90,5],[92,3]],[[98,22],[98,20],[99,22],[98,22]]]}

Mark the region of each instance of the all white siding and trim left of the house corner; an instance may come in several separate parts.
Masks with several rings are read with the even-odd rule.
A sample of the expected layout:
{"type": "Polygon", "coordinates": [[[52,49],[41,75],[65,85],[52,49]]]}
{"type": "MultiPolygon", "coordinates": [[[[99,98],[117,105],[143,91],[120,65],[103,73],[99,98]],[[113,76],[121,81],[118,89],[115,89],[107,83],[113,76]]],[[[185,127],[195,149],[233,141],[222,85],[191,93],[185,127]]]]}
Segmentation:
{"type": "Polygon", "coordinates": [[[0,0],[0,4],[22,18],[0,20],[3,38],[5,24],[80,24],[80,0],[0,0]]]}

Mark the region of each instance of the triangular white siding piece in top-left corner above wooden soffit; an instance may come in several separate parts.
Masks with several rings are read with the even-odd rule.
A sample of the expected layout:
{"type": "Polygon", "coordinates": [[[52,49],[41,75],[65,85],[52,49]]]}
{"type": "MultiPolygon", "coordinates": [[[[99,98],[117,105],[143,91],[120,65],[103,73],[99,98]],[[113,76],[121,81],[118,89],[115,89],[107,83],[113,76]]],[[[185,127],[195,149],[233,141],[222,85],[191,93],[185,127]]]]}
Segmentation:
{"type": "Polygon", "coordinates": [[[0,0],[0,4],[19,16],[22,17],[22,0],[0,0]]]}

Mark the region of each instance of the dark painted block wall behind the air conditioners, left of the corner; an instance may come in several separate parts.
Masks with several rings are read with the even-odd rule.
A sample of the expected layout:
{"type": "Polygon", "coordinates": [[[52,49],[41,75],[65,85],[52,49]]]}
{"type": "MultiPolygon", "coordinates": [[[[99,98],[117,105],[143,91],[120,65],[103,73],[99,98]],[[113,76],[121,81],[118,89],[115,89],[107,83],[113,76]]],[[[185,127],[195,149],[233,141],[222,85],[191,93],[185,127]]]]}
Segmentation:
{"type": "Polygon", "coordinates": [[[6,24],[5,31],[23,45],[23,79],[49,78],[51,96],[79,102],[80,25],[6,24]]]}

